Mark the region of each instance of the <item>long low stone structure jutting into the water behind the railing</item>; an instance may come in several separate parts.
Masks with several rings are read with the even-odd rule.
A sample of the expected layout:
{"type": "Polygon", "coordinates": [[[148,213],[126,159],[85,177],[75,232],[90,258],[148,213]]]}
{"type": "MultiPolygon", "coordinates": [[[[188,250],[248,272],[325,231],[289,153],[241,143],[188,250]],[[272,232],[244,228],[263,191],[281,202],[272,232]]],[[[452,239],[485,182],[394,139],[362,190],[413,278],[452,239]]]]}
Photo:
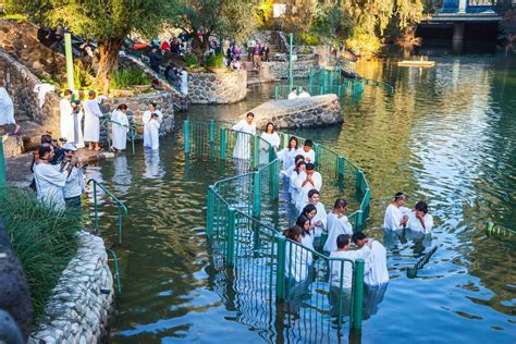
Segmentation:
{"type": "Polygon", "coordinates": [[[278,128],[303,128],[328,126],[344,121],[336,95],[270,100],[250,112],[255,114],[258,127],[265,127],[268,122],[274,123],[278,128]]]}

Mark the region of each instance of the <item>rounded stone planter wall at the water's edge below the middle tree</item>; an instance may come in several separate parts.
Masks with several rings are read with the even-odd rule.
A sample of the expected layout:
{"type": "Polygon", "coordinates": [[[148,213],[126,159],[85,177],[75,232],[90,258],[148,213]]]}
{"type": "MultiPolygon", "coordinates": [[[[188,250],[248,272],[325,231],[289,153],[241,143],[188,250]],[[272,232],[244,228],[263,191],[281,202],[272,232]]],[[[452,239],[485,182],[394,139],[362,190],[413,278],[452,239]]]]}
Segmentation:
{"type": "Polygon", "coordinates": [[[247,95],[246,71],[188,74],[188,98],[192,103],[233,103],[247,95]]]}

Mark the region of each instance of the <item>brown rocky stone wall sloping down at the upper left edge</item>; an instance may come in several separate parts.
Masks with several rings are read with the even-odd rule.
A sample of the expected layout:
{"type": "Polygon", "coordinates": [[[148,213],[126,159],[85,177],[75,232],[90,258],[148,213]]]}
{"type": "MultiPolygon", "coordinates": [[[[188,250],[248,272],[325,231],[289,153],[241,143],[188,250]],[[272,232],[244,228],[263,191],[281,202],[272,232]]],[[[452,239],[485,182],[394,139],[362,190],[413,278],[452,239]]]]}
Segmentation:
{"type": "Polygon", "coordinates": [[[0,48],[34,73],[65,81],[66,62],[37,39],[38,28],[28,22],[0,20],[0,48]]]}

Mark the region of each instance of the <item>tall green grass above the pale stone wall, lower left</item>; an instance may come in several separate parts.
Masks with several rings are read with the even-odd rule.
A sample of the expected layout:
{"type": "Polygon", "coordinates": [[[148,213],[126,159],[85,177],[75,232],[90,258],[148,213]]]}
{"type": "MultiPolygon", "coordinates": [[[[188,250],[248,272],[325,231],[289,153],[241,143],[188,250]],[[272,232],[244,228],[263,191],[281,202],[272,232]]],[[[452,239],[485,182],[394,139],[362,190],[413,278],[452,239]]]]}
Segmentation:
{"type": "Polygon", "coordinates": [[[30,191],[0,188],[0,222],[27,277],[37,323],[62,271],[75,255],[82,229],[78,211],[56,211],[30,191]]]}

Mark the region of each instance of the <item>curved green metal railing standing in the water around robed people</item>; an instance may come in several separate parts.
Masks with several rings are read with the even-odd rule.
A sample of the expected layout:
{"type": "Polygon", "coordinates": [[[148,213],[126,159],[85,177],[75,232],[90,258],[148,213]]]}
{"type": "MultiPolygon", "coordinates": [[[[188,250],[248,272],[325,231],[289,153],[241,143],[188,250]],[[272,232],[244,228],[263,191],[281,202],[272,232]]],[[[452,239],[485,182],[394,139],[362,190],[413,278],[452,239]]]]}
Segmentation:
{"type": "MultiPolygon", "coordinates": [[[[290,135],[279,134],[281,149],[287,145],[290,135]]],[[[299,145],[303,142],[300,138],[299,145]]],[[[280,189],[280,160],[275,150],[258,136],[231,131],[229,123],[214,121],[185,121],[184,147],[186,153],[209,155],[221,161],[234,159],[237,175],[208,188],[206,231],[216,256],[220,256],[226,267],[234,268],[233,287],[242,293],[239,298],[267,310],[273,308],[275,295],[275,300],[285,303],[287,314],[294,314],[292,319],[298,319],[302,327],[310,323],[316,329],[330,330],[333,317],[340,329],[343,318],[349,317],[352,329],[359,330],[364,261],[329,258],[280,234],[271,216],[278,209],[280,189]],[[304,259],[311,263],[304,263],[304,259]],[[332,283],[330,271],[337,263],[341,279],[332,283]],[[296,270],[305,271],[304,279],[297,279],[303,281],[296,280],[296,270]],[[347,285],[348,282],[344,285],[344,274],[353,275],[352,285],[347,285]],[[303,285],[311,293],[302,293],[303,285]]],[[[316,144],[315,151],[324,180],[353,186],[358,210],[349,218],[355,231],[364,229],[370,202],[364,172],[321,145],[316,144]]]]}

